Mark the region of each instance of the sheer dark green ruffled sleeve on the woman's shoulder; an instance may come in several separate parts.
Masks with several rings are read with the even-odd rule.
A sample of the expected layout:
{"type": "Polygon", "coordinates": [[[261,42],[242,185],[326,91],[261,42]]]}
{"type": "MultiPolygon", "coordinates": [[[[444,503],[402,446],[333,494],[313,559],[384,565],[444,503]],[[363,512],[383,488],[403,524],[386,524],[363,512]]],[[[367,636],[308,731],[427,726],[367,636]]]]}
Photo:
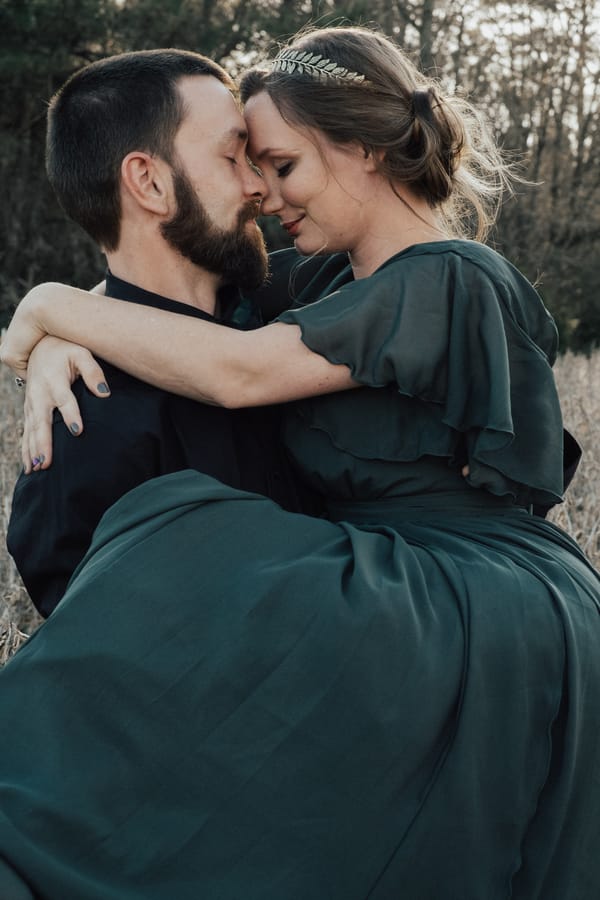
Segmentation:
{"type": "MultiPolygon", "coordinates": [[[[531,503],[560,499],[556,327],[531,284],[494,251],[468,241],[409,248],[279,320],[299,325],[311,350],[347,365],[361,384],[395,385],[419,401],[429,423],[417,441],[421,454],[442,455],[443,444],[447,452],[450,433],[474,486],[531,503]]],[[[405,431],[421,428],[419,405],[405,431]]],[[[395,458],[409,458],[393,423],[382,431],[395,458]]],[[[414,433],[404,443],[414,459],[414,433]]]]}

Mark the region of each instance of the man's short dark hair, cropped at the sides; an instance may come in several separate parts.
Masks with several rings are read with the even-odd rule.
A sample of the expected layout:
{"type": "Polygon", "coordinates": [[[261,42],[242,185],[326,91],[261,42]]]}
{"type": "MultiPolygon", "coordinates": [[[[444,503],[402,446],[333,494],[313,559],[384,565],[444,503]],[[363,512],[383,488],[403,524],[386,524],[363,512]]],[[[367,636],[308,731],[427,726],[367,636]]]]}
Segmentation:
{"type": "Polygon", "coordinates": [[[61,206],[104,250],[119,245],[121,163],[134,150],[173,162],[185,117],[177,82],[211,75],[217,63],[185,50],[141,50],[76,72],[50,101],[46,170],[61,206]]]}

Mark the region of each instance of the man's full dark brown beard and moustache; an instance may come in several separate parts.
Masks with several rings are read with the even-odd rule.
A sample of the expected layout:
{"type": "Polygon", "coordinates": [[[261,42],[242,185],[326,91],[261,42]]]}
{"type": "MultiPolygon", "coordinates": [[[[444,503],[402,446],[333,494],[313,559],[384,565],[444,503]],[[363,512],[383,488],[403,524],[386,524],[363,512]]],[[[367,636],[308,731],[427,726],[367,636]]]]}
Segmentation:
{"type": "Polygon", "coordinates": [[[185,172],[173,167],[177,212],[160,226],[164,239],[196,266],[221,275],[224,284],[251,290],[260,287],[268,271],[267,249],[258,228],[248,231],[259,205],[251,200],[238,213],[231,231],[219,228],[198,200],[185,172]]]}

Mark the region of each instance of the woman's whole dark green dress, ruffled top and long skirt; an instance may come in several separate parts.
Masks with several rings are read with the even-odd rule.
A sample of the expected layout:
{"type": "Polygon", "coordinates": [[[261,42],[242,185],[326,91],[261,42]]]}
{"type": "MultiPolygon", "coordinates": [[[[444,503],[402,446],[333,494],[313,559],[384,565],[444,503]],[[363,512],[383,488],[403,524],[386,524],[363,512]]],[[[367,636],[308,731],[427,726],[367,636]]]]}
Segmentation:
{"type": "Polygon", "coordinates": [[[329,518],[194,472],[106,514],[0,673],[0,857],[44,900],[595,900],[600,580],[530,513],[552,320],[462,241],[303,300],[363,385],[287,415],[329,518]]]}

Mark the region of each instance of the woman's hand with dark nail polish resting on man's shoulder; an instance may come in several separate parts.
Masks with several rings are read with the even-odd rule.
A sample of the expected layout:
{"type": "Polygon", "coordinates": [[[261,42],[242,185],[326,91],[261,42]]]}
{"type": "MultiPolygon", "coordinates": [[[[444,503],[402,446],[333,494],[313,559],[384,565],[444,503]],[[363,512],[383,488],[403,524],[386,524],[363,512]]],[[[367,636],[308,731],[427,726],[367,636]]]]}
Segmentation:
{"type": "Polygon", "coordinates": [[[96,397],[110,394],[104,372],[92,354],[69,341],[44,337],[29,356],[26,370],[25,426],[21,443],[23,468],[32,471],[47,469],[52,462],[52,418],[60,411],[71,434],[83,432],[79,406],[71,391],[73,382],[81,376],[96,397]]]}

